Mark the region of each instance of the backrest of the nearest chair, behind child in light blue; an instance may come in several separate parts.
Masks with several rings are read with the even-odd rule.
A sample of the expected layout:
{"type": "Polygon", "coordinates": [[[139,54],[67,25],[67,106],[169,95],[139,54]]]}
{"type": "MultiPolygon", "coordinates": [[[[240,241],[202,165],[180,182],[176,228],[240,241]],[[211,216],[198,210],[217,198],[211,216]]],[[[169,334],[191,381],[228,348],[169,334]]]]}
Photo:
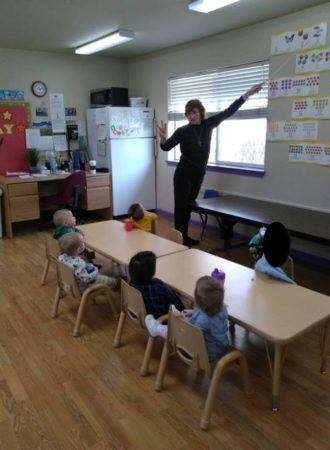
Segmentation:
{"type": "Polygon", "coordinates": [[[184,363],[211,374],[204,336],[198,327],[170,313],[167,343],[184,363]]]}

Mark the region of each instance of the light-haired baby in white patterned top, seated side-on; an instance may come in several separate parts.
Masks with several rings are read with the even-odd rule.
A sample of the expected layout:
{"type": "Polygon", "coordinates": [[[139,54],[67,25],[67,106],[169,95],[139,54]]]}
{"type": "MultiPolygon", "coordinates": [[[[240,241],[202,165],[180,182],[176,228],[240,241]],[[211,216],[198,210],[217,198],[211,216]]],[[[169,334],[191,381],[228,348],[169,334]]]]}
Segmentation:
{"type": "Polygon", "coordinates": [[[59,246],[63,253],[58,259],[74,268],[74,275],[81,293],[93,283],[107,284],[112,288],[117,287],[118,279],[115,277],[119,277],[121,275],[120,273],[116,274],[112,271],[113,273],[108,274],[111,276],[100,274],[94,264],[86,263],[80,257],[80,254],[85,250],[84,238],[81,233],[71,232],[64,234],[59,239],[59,246]]]}

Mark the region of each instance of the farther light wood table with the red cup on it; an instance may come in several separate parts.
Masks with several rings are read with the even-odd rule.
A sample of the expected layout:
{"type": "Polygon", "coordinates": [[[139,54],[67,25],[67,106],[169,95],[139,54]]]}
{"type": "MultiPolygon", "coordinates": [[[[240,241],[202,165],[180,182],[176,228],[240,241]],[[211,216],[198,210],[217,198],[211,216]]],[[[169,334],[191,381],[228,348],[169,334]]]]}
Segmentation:
{"type": "Polygon", "coordinates": [[[128,264],[136,253],[150,250],[157,257],[187,250],[187,247],[146,231],[126,231],[117,220],[82,225],[86,245],[120,264],[128,264]]]}

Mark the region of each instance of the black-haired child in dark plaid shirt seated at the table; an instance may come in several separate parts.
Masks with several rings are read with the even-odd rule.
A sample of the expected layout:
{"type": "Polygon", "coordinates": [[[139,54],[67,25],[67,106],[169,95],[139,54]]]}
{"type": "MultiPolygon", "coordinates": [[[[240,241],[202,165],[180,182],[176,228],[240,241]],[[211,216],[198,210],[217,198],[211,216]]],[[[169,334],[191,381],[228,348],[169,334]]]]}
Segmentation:
{"type": "Polygon", "coordinates": [[[180,297],[163,281],[154,278],[156,272],[156,255],[153,252],[139,252],[130,260],[129,275],[131,285],[138,289],[144,300],[147,314],[158,319],[168,313],[171,304],[183,310],[180,297]]]}

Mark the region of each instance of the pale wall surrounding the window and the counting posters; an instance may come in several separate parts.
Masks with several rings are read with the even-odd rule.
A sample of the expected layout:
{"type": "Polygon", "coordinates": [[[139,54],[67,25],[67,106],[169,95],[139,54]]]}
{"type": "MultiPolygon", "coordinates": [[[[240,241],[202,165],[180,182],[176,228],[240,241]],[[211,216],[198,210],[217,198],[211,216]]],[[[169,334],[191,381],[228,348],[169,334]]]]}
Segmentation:
{"type": "MultiPolygon", "coordinates": [[[[327,20],[330,28],[330,3],[131,60],[130,95],[148,97],[150,105],[156,108],[157,119],[166,120],[168,77],[268,59],[273,33],[321,20],[327,20]]],[[[330,35],[330,31],[328,34],[330,35]]],[[[290,74],[293,73],[292,67],[289,70],[290,74]]],[[[330,88],[330,72],[322,74],[322,78],[327,78],[330,88]]],[[[329,95],[330,89],[327,91],[324,94],[329,95]]],[[[289,118],[290,108],[284,105],[287,100],[272,102],[278,103],[271,104],[270,118],[289,118]],[[282,114],[285,114],[285,117],[282,114]]],[[[322,140],[330,141],[328,125],[329,122],[322,125],[322,140]]],[[[166,153],[159,150],[158,208],[173,211],[174,168],[167,166],[165,161],[166,153]]],[[[268,144],[266,148],[265,170],[263,178],[208,172],[204,184],[247,196],[330,210],[330,167],[290,164],[288,145],[273,143],[268,144]]]]}

